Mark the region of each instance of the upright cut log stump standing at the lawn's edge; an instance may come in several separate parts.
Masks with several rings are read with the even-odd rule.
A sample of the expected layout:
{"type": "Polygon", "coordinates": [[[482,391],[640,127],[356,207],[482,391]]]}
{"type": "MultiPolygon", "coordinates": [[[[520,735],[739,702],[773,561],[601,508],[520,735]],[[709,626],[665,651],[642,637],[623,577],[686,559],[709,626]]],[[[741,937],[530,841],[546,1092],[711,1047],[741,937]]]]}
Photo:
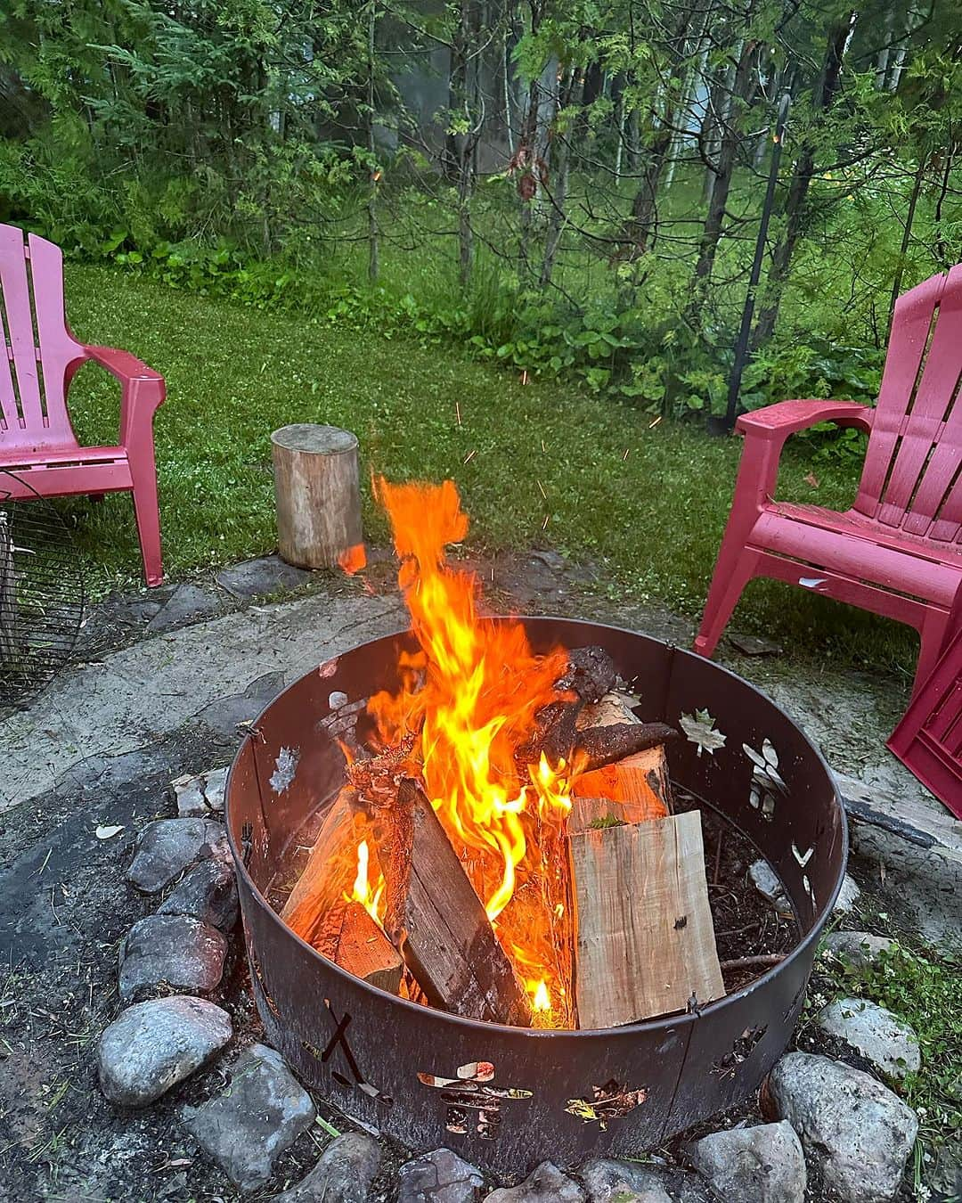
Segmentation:
{"type": "Polygon", "coordinates": [[[301,422],[271,435],[278,547],[299,568],[332,568],[360,547],[357,438],[301,422]]]}

